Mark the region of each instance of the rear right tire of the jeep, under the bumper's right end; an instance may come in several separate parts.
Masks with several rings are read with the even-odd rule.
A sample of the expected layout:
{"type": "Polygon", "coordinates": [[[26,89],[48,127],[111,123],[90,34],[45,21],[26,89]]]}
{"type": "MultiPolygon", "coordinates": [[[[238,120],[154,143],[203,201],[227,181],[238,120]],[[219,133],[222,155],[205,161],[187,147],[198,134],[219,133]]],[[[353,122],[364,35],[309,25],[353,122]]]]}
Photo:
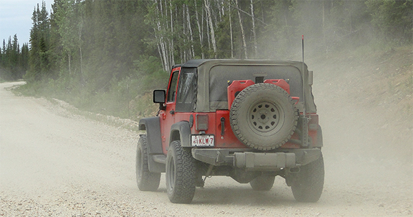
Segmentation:
{"type": "Polygon", "coordinates": [[[299,168],[299,172],[290,174],[291,189],[298,202],[315,203],[319,200],[324,187],[324,160],[321,155],[299,168]]]}

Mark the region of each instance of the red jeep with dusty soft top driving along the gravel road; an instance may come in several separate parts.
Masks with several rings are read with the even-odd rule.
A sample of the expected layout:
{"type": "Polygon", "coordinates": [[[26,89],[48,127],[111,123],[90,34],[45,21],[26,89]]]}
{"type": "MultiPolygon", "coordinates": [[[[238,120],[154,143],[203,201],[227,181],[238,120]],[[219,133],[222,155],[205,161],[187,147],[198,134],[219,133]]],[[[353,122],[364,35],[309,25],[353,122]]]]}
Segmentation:
{"type": "Polygon", "coordinates": [[[316,202],[324,185],[323,140],[303,62],[191,60],[155,90],[156,117],[142,118],[136,179],[172,203],[191,203],[209,176],[231,176],[259,191],[282,176],[297,201],[316,202]]]}

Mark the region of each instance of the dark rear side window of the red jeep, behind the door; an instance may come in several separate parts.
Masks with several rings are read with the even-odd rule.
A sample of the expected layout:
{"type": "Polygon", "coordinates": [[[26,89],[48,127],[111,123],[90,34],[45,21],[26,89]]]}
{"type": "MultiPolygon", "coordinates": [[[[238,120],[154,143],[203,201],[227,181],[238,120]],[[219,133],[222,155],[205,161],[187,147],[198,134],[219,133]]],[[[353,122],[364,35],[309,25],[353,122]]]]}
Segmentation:
{"type": "Polygon", "coordinates": [[[176,110],[192,112],[195,110],[197,76],[196,68],[182,68],[176,96],[176,110]]]}

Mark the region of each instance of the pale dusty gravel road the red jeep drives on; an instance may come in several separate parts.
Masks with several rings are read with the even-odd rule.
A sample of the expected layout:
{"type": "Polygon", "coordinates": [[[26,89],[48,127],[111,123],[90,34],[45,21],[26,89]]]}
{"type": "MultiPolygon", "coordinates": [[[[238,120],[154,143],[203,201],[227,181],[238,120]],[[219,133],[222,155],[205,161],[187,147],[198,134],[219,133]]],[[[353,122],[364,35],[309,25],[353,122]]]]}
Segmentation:
{"type": "Polygon", "coordinates": [[[359,116],[349,120],[348,108],[323,108],[328,101],[321,93],[326,184],[318,203],[296,203],[279,177],[270,192],[213,177],[197,188],[192,204],[176,205],[169,203],[163,175],[158,192],[136,187],[136,132],[61,112],[44,99],[14,96],[5,90],[14,84],[0,84],[0,216],[413,215],[412,153],[399,161],[363,149],[377,143],[372,132],[357,140],[368,122],[354,127],[359,116]]]}

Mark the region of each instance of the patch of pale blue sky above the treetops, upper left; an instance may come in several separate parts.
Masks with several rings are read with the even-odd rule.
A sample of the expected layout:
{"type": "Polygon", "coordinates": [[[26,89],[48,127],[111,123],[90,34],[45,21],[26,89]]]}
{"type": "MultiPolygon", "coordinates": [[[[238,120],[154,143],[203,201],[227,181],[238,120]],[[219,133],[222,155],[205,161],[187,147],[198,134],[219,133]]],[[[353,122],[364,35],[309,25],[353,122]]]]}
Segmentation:
{"type": "MultiPolygon", "coordinates": [[[[0,40],[3,46],[3,39],[8,43],[8,39],[17,34],[20,48],[23,43],[28,43],[30,29],[32,28],[32,14],[34,7],[41,0],[0,0],[0,40]]],[[[46,0],[47,12],[50,16],[50,8],[53,0],[46,0]]]]}

